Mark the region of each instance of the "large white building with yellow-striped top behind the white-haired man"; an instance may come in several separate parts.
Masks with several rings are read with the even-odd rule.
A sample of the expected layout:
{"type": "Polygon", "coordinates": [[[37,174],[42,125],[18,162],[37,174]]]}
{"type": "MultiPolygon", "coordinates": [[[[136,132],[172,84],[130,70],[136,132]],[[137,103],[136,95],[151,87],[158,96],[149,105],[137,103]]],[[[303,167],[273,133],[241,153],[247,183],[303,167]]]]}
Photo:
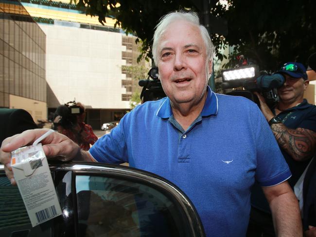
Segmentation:
{"type": "Polygon", "coordinates": [[[122,66],[136,65],[135,36],[114,28],[114,19],[102,26],[68,0],[22,0],[46,34],[48,113],[70,101],[86,106],[87,122],[100,129],[119,120],[130,109],[133,82],[122,66]]]}

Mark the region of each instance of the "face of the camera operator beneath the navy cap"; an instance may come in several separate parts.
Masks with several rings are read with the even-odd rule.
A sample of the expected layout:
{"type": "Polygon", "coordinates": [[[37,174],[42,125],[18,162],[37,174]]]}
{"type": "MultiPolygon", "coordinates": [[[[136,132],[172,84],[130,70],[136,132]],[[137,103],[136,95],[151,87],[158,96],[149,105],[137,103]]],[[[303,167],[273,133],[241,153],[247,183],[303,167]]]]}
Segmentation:
{"type": "Polygon", "coordinates": [[[290,103],[301,102],[308,81],[304,81],[303,78],[293,78],[287,74],[283,74],[283,76],[285,78],[285,83],[278,89],[280,100],[282,102],[290,103]]]}

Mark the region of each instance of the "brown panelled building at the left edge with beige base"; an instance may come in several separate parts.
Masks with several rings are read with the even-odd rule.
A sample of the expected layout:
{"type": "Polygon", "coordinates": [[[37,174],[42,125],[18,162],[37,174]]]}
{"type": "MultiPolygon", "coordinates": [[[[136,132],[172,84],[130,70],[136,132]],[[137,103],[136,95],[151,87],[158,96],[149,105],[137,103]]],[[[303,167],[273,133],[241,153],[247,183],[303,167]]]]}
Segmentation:
{"type": "Polygon", "coordinates": [[[47,118],[46,36],[18,0],[0,0],[0,108],[47,118]]]}

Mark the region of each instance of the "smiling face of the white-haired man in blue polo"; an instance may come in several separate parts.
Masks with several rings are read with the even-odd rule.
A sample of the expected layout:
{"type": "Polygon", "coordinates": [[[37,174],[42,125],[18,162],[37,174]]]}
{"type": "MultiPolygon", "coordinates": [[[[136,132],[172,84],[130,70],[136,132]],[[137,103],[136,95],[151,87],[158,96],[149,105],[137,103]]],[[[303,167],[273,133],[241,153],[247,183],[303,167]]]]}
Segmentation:
{"type": "Polygon", "coordinates": [[[178,20],[168,26],[158,42],[159,79],[174,104],[198,104],[208,82],[206,48],[200,30],[178,20]]]}

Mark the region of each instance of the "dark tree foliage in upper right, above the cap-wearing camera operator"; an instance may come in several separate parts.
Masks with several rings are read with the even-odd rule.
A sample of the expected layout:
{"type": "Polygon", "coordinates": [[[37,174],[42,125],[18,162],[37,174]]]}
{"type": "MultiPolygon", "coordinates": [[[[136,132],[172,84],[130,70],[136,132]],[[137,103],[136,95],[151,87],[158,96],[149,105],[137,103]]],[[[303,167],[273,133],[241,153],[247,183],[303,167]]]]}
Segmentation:
{"type": "MultiPolygon", "coordinates": [[[[290,61],[306,65],[316,51],[315,0],[228,0],[226,41],[234,53],[276,70],[290,61]]],[[[231,65],[230,65],[231,66],[231,65]]]]}

